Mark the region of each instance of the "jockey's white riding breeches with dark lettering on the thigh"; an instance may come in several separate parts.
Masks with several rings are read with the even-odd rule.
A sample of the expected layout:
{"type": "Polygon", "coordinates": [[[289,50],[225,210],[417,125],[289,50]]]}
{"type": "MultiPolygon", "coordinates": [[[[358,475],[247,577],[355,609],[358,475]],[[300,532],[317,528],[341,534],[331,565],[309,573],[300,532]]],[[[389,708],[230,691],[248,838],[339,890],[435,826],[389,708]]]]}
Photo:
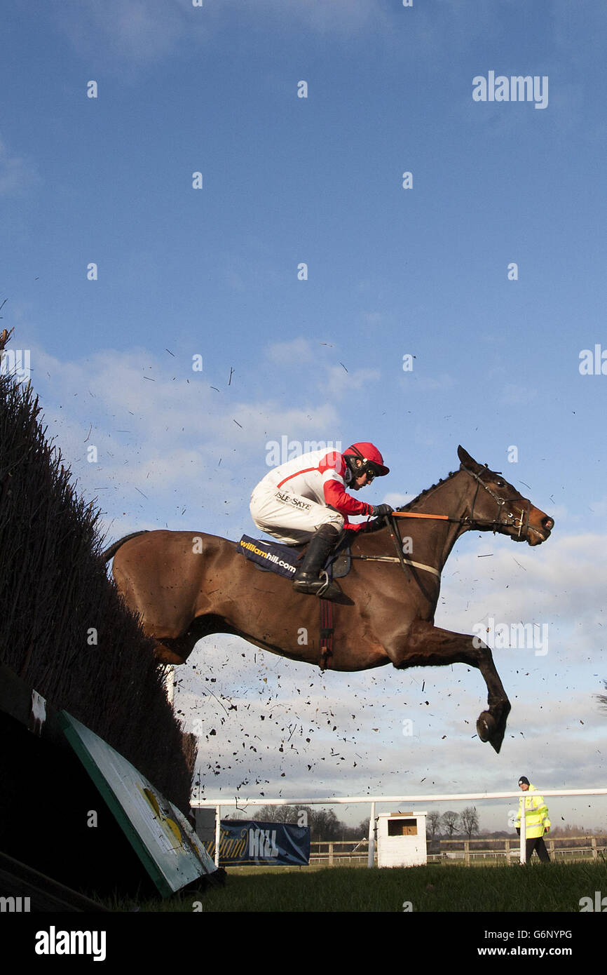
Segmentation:
{"type": "Polygon", "coordinates": [[[255,488],[249,508],[255,525],[285,545],[309,541],[322,525],[334,525],[338,531],[344,526],[338,511],[279,487],[255,488]]]}

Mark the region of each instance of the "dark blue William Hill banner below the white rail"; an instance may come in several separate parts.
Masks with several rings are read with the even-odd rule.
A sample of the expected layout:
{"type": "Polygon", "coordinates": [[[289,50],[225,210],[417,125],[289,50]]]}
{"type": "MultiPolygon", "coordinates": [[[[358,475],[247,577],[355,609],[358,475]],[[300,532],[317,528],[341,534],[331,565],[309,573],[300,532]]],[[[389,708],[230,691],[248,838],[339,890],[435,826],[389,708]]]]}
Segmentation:
{"type": "MultiPolygon", "coordinates": [[[[205,843],[210,857],[215,841],[205,843]]],[[[219,866],[246,864],[307,866],[310,861],[310,827],[288,823],[256,823],[250,820],[221,820],[219,866]]]]}

